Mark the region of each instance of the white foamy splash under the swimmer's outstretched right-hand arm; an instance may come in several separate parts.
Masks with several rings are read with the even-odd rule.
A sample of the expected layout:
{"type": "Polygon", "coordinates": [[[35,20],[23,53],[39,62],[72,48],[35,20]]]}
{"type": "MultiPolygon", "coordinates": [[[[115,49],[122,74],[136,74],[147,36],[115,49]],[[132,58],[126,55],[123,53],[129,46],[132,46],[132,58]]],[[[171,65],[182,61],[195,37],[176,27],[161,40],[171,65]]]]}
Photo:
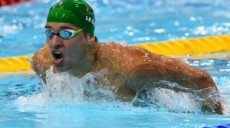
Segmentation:
{"type": "Polygon", "coordinates": [[[213,88],[192,90],[163,80],[154,83],[154,85],[157,87],[147,86],[140,90],[133,99],[132,104],[137,106],[153,106],[170,112],[202,113],[202,102],[209,99],[214,101],[223,99],[213,88]]]}

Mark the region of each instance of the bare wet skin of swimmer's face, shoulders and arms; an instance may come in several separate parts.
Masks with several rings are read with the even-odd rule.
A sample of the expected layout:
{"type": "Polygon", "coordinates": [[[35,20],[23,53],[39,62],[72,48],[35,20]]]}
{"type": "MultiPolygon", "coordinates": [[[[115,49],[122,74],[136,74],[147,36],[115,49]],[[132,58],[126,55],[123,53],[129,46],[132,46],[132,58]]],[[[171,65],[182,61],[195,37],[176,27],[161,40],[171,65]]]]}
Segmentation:
{"type": "MultiPolygon", "coordinates": [[[[55,33],[63,28],[80,29],[70,24],[55,22],[48,22],[46,28],[52,29],[55,33]]],[[[180,59],[115,42],[98,43],[94,36],[85,32],[80,32],[68,40],[57,35],[48,38],[46,44],[35,53],[32,67],[45,81],[45,71],[52,65],[55,73],[69,72],[76,77],[107,69],[108,86],[119,97],[125,99],[132,99],[144,87],[169,88],[167,85],[159,84],[162,80],[194,90],[213,88],[218,92],[207,72],[192,67],[180,59]],[[61,55],[55,55],[55,52],[61,55]]],[[[99,79],[98,82],[105,84],[99,79]]],[[[170,89],[181,91],[178,88],[170,89]]],[[[209,92],[206,93],[202,96],[209,95],[209,92]]],[[[223,114],[220,101],[205,101],[202,110],[223,114]]]]}

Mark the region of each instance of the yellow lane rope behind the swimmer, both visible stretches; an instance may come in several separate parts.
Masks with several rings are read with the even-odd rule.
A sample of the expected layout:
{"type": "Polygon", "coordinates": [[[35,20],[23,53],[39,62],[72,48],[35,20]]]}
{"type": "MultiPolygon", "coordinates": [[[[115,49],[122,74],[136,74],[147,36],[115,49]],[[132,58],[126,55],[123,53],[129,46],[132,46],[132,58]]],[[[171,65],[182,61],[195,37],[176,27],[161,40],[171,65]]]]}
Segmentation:
{"type": "MultiPolygon", "coordinates": [[[[148,51],[170,56],[230,51],[230,34],[135,44],[148,51]]],[[[28,58],[33,54],[0,58],[0,73],[31,70],[28,58]]]]}

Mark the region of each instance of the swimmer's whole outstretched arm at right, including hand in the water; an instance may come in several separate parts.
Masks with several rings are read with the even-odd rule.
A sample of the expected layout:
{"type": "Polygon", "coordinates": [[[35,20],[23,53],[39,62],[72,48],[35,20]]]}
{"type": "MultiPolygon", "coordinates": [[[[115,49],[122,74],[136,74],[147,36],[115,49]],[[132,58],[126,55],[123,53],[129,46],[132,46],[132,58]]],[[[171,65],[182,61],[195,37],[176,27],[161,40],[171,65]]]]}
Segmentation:
{"type": "Polygon", "coordinates": [[[130,71],[131,79],[127,84],[128,88],[136,93],[142,93],[156,87],[192,93],[194,92],[193,90],[203,90],[203,93],[196,94],[203,99],[207,99],[201,102],[201,110],[208,113],[223,114],[222,101],[208,99],[213,92],[218,94],[218,89],[211,76],[207,72],[191,66],[184,64],[180,66],[182,67],[177,70],[156,68],[151,65],[135,67],[130,71]],[[168,83],[161,80],[168,81],[168,83]],[[170,86],[172,83],[177,83],[179,86],[170,86]]]}

